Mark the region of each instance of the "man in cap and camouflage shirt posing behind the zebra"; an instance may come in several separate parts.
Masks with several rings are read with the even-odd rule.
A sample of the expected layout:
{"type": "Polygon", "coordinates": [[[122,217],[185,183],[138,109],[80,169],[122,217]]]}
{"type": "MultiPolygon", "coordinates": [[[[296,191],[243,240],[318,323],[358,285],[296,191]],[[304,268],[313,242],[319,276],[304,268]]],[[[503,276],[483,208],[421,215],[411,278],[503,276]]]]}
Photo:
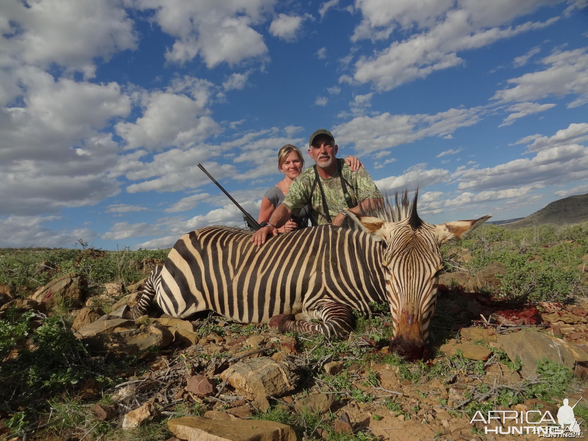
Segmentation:
{"type": "Polygon", "coordinates": [[[312,225],[340,225],[345,219],[343,210],[359,213],[360,206],[369,209],[383,204],[382,193],[365,169],[352,172],[348,165],[335,158],[338,146],[328,130],[318,129],[310,135],[309,146],[308,153],[316,166],[309,167],[292,182],[288,195],[275,209],[268,225],[253,234],[251,241],[255,245],[262,245],[270,234],[278,236],[278,228],[306,204],[312,208],[312,225]]]}

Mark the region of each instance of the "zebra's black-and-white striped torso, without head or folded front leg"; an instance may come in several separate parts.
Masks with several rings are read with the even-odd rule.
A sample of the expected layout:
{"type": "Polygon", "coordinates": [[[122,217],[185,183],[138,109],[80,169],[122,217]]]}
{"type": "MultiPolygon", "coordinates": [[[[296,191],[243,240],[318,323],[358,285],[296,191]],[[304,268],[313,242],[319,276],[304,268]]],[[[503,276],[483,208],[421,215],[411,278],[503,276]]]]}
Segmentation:
{"type": "Polygon", "coordinates": [[[268,323],[280,314],[319,318],[318,303],[368,313],[370,302],[386,301],[383,246],[368,233],[323,225],[262,247],[251,236],[225,226],[183,235],[149,279],[163,312],[187,318],[210,309],[241,323],[268,323]]]}

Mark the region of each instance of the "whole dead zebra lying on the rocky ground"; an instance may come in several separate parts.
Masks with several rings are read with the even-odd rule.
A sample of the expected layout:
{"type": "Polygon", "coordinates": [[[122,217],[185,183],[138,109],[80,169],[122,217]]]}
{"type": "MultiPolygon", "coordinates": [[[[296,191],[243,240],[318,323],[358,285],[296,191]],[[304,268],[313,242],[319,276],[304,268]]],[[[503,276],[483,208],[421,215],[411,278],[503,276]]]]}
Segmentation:
{"type": "Polygon", "coordinates": [[[267,323],[278,332],[319,332],[346,338],[353,310],[387,303],[390,350],[423,356],[443,270],[440,246],[465,238],[491,216],[440,225],[417,214],[417,192],[395,195],[370,213],[346,212],[346,227],[320,225],[270,237],[207,226],[183,235],[163,266],[153,269],[129,318],[153,299],[168,315],[214,312],[240,323],[267,323]],[[311,322],[310,320],[317,320],[311,322]]]}

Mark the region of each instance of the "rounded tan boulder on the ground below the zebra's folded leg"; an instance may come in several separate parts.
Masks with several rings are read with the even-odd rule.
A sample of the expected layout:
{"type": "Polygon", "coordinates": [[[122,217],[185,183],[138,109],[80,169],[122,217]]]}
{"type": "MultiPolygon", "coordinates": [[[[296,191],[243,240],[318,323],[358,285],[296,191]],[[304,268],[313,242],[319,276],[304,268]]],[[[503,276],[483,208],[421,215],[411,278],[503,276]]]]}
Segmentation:
{"type": "Polygon", "coordinates": [[[282,396],[296,388],[299,376],[296,366],[259,357],[235,363],[220,374],[220,378],[246,395],[256,397],[282,396]]]}

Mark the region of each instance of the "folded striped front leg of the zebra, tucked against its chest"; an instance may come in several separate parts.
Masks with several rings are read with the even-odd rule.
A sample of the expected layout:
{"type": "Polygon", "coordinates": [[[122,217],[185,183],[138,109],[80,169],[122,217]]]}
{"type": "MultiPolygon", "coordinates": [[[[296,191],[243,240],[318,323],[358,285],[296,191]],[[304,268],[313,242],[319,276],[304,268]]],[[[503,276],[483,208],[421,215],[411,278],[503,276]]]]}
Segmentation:
{"type": "Polygon", "coordinates": [[[318,332],[331,338],[344,339],[351,332],[353,313],[349,306],[342,303],[319,303],[313,313],[321,323],[295,320],[293,314],[273,316],[268,327],[278,332],[318,332]]]}

